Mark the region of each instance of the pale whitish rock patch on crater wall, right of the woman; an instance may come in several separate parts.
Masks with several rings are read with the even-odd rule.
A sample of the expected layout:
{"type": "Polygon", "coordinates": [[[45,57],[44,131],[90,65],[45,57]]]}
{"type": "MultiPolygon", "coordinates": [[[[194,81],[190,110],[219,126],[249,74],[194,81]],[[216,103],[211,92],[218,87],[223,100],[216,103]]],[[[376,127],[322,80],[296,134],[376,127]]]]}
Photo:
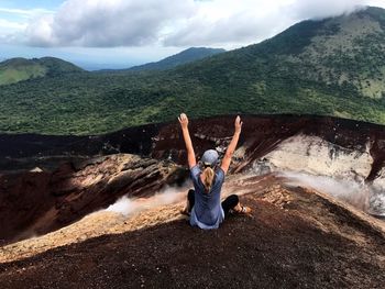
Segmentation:
{"type": "Polygon", "coordinates": [[[364,181],[371,174],[373,157],[369,144],[356,151],[322,140],[319,136],[295,135],[253,164],[253,169],[268,166],[271,171],[306,171],[311,175],[364,181]]]}

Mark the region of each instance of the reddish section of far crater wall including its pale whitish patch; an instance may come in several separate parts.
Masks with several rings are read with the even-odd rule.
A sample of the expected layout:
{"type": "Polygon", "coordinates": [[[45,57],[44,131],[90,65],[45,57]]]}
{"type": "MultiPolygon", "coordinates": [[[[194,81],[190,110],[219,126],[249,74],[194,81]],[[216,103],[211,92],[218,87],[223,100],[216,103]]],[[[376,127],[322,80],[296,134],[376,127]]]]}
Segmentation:
{"type": "MultiPolygon", "coordinates": [[[[381,125],[321,116],[244,116],[233,173],[275,169],[374,181],[385,160],[385,130],[381,125]]],[[[198,156],[208,148],[224,152],[233,133],[233,118],[191,121],[198,156]]],[[[152,155],[186,163],[177,124],[160,130],[152,155]],[[170,148],[172,147],[172,148],[170,148]]],[[[377,180],[378,181],[378,180],[377,180]]]]}

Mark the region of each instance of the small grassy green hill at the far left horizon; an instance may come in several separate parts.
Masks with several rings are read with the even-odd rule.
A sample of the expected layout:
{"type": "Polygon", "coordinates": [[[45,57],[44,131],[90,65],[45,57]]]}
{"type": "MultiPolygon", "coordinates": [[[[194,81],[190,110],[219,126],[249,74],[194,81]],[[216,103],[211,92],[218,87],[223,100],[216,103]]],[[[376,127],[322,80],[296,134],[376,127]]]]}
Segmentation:
{"type": "Polygon", "coordinates": [[[84,70],[72,63],[54,57],[11,58],[0,63],[0,86],[45,76],[63,76],[80,71],[84,70]]]}

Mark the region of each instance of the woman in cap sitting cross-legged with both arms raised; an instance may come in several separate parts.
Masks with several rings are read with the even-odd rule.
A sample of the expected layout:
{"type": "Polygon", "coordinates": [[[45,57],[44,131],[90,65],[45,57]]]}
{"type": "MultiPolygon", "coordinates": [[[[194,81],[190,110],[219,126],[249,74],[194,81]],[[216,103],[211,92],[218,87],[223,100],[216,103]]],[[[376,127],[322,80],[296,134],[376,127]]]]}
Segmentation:
{"type": "Polygon", "coordinates": [[[205,230],[218,229],[230,210],[238,213],[250,213],[251,209],[241,205],[237,194],[231,194],[222,203],[220,202],[224,175],[228,173],[242,130],[240,116],[235,119],[235,132],[220,166],[218,164],[218,153],[213,149],[206,151],[200,159],[201,164],[197,165],[188,132],[187,115],[182,113],[178,120],[186,144],[188,166],[195,188],[195,190],[188,191],[187,205],[182,213],[190,213],[190,224],[205,230]]]}

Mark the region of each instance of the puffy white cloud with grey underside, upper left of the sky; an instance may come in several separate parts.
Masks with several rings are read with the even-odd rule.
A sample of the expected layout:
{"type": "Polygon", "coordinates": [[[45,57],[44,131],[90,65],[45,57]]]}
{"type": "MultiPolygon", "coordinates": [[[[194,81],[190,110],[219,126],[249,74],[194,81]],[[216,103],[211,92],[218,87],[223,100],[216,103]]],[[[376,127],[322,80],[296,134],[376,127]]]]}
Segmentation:
{"type": "Polygon", "coordinates": [[[194,13],[194,1],[68,0],[57,13],[33,21],[29,42],[37,46],[141,46],[194,13]]]}

